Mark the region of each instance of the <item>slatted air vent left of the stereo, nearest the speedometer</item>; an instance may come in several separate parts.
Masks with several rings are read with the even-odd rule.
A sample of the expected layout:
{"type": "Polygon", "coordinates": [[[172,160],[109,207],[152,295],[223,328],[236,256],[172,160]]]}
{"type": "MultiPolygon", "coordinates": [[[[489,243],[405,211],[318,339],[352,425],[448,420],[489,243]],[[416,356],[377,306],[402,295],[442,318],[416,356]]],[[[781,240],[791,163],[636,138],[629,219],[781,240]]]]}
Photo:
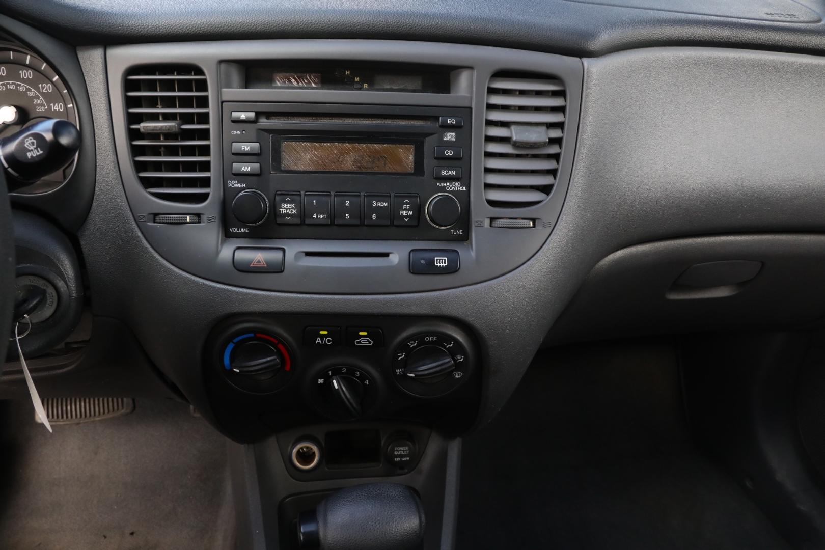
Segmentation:
{"type": "Polygon", "coordinates": [[[178,203],[210,192],[210,113],[206,76],[191,66],[139,67],[126,76],[134,171],[144,188],[178,203]]]}

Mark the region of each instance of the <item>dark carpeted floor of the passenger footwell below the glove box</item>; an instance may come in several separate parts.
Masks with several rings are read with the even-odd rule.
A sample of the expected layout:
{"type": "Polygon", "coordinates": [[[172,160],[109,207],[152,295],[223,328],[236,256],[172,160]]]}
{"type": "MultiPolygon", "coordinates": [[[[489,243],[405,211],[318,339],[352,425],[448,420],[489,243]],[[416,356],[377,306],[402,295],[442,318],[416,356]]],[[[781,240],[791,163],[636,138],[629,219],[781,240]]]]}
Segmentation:
{"type": "Polygon", "coordinates": [[[458,549],[788,548],[691,444],[667,342],[544,352],[464,441],[458,549]]]}

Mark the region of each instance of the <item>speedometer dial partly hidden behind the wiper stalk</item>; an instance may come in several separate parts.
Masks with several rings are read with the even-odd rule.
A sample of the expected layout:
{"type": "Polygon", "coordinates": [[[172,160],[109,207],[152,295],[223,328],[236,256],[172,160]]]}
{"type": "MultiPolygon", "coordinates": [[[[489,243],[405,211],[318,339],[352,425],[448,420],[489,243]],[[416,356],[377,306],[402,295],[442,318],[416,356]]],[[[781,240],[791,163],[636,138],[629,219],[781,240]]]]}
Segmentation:
{"type": "MultiPolygon", "coordinates": [[[[16,45],[0,43],[0,138],[47,119],[68,120],[79,127],[68,87],[43,59],[16,45]]],[[[77,157],[40,179],[31,191],[59,186],[71,176],[75,162],[77,157]]]]}

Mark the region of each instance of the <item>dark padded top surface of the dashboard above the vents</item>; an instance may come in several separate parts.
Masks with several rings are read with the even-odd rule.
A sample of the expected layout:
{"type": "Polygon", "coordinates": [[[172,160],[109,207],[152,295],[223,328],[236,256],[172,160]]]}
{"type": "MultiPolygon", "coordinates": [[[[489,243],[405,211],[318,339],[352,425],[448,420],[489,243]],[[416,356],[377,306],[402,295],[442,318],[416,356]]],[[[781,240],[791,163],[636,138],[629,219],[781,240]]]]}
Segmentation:
{"type": "Polygon", "coordinates": [[[629,7],[638,2],[628,0],[606,3],[623,5],[568,0],[64,0],[43,9],[40,2],[2,0],[0,11],[49,28],[75,45],[277,37],[438,40],[582,56],[662,45],[825,51],[825,24],[804,22],[817,19],[812,11],[821,15],[822,0],[772,2],[780,7],[776,12],[761,9],[764,2],[731,0],[724,2],[725,16],[696,13],[719,13],[702,9],[710,2],[690,2],[692,10],[679,0],[658,2],[656,10],[629,7]]]}

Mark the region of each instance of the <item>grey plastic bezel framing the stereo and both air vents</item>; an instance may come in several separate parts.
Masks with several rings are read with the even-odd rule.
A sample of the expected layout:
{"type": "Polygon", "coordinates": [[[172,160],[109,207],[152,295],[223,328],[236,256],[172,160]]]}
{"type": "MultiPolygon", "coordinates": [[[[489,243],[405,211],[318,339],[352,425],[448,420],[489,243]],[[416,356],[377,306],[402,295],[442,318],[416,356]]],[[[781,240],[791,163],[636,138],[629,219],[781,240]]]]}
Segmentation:
{"type": "MultiPolygon", "coordinates": [[[[371,40],[260,40],[247,42],[205,42],[174,45],[116,46],[107,51],[112,121],[118,150],[120,175],[139,228],[167,261],[193,275],[221,283],[254,289],[330,294],[385,294],[453,288],[493,279],[527,261],[547,239],[558,219],[570,177],[578,103],[581,96],[582,64],[579,59],[535,52],[478,46],[390,42],[371,40]],[[408,92],[334,92],[295,90],[232,90],[224,81],[238,86],[240,65],[233,61],[254,59],[349,59],[394,63],[440,63],[474,70],[474,87],[467,90],[462,71],[454,78],[456,94],[416,94],[408,92]],[[124,73],[136,64],[196,63],[204,69],[210,85],[212,109],[212,186],[205,204],[170,204],[148,195],[137,181],[130,160],[122,102],[124,73]],[[223,62],[223,66],[222,66],[223,62]],[[227,63],[229,62],[229,63],[227,63]],[[559,176],[554,190],[542,204],[522,209],[493,208],[483,195],[483,129],[487,81],[497,71],[529,71],[554,75],[567,87],[567,120],[559,176]],[[472,91],[471,95],[465,92],[472,91]],[[316,103],[358,103],[420,105],[440,107],[472,106],[473,145],[469,174],[469,240],[448,241],[356,241],[244,239],[224,237],[221,155],[224,136],[219,125],[221,101],[300,101],[316,103]],[[150,223],[151,214],[201,214],[201,219],[217,223],[164,225],[150,223]],[[214,217],[214,218],[213,218],[214,217]],[[491,218],[537,219],[535,228],[491,228],[491,218]],[[285,270],[279,274],[241,273],[232,266],[235,247],[282,247],[285,270]],[[460,252],[461,268],[450,275],[413,275],[409,272],[409,252],[416,248],[449,248],[460,252]],[[300,261],[307,253],[341,254],[337,261],[323,264],[300,261]],[[394,261],[364,261],[364,253],[386,253],[394,261]],[[351,254],[351,256],[347,256],[351,254]],[[334,280],[334,284],[330,281],[334,280]]],[[[467,178],[465,176],[464,181],[467,178]]],[[[423,207],[423,205],[422,205],[423,207]]],[[[422,217],[421,223],[426,223],[422,217]]]]}

